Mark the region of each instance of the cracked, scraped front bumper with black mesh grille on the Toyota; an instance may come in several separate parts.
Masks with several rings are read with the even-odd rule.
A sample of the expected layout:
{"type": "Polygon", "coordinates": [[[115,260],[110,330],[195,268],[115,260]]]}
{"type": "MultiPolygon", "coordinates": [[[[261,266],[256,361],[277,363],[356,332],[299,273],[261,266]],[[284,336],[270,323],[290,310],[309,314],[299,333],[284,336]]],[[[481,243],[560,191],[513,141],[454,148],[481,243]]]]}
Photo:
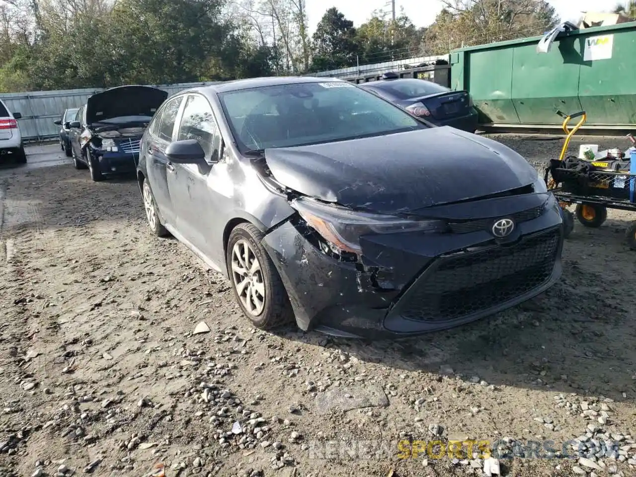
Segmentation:
{"type": "Polygon", "coordinates": [[[504,244],[485,230],[374,236],[364,265],[327,256],[293,221],[263,240],[301,329],[365,338],[453,328],[528,300],[560,277],[562,244],[556,207],[504,244]]]}

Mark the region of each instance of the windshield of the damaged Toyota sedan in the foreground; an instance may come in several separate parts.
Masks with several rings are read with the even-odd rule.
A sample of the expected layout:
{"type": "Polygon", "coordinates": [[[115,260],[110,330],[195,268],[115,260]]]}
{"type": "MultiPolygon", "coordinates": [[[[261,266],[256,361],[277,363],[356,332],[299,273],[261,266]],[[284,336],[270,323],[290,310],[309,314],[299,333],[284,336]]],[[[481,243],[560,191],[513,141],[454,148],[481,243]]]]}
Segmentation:
{"type": "Polygon", "coordinates": [[[242,152],[427,128],[350,83],[296,83],[226,93],[219,99],[242,152]]]}

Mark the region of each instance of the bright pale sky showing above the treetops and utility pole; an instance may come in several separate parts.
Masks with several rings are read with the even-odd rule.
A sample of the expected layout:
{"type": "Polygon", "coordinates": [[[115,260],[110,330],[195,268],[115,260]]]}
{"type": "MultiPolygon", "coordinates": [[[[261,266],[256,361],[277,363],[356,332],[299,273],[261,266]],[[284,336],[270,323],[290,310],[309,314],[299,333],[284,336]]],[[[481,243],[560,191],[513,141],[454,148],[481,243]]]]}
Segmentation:
{"type": "MultiPolygon", "coordinates": [[[[555,7],[556,13],[563,22],[574,20],[578,22],[581,11],[598,11],[598,0],[548,0],[555,7]]],[[[607,10],[612,10],[619,0],[604,2],[607,10]]],[[[308,25],[310,34],[324,15],[324,12],[335,6],[348,20],[359,26],[371,17],[371,11],[391,11],[390,0],[306,0],[308,25]]],[[[441,10],[439,0],[396,0],[396,15],[399,15],[400,7],[417,27],[424,27],[434,22],[436,15],[441,10]]]]}

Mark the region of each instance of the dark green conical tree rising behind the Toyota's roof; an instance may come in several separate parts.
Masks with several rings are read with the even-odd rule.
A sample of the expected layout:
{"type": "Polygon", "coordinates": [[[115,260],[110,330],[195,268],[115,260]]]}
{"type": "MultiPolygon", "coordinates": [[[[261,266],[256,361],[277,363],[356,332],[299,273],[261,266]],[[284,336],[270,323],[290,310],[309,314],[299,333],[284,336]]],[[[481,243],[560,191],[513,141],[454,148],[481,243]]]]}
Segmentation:
{"type": "Polygon", "coordinates": [[[355,65],[359,48],[354,23],[337,8],[329,8],[316,27],[313,46],[312,71],[355,65]]]}

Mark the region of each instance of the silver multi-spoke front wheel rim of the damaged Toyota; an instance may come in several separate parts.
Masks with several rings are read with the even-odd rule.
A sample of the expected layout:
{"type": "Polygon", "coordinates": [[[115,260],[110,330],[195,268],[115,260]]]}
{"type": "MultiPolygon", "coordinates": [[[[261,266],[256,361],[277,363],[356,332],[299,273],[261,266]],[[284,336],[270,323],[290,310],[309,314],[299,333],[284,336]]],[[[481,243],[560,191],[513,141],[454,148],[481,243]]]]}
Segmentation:
{"type": "Polygon", "coordinates": [[[265,309],[265,279],[256,254],[246,240],[232,248],[232,280],[245,310],[258,316],[265,309]]]}

